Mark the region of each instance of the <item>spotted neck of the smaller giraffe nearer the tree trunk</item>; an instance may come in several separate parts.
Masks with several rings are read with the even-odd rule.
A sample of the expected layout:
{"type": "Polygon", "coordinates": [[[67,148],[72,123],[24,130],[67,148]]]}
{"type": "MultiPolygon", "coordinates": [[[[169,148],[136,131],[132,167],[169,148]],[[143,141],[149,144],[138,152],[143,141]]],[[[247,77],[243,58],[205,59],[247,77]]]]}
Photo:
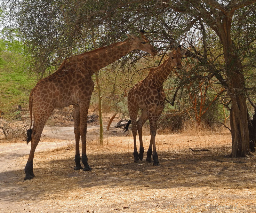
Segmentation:
{"type": "Polygon", "coordinates": [[[172,62],[172,59],[169,58],[164,61],[159,67],[156,67],[156,70],[153,74],[153,79],[155,81],[156,86],[162,86],[166,78],[172,72],[172,69],[175,65],[172,62]]]}

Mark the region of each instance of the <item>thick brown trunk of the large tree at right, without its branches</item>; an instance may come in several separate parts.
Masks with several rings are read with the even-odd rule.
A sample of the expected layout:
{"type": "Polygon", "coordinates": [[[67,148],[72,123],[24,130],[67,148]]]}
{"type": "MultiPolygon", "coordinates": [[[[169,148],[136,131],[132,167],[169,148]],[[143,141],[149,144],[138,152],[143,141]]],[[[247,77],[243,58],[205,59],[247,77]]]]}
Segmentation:
{"type": "Polygon", "coordinates": [[[229,156],[237,158],[250,156],[250,150],[244,72],[241,59],[237,55],[236,46],[231,38],[232,16],[233,13],[223,17],[222,24],[219,25],[219,35],[226,62],[228,95],[231,99],[229,120],[232,151],[229,156]]]}

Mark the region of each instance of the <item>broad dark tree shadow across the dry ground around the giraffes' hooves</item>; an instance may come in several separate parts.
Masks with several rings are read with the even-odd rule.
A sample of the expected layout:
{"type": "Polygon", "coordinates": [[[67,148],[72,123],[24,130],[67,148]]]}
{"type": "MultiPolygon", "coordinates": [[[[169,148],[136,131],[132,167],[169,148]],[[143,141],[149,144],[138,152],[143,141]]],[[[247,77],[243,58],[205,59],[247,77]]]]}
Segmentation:
{"type": "MultiPolygon", "coordinates": [[[[67,151],[72,152],[73,151],[67,151]]],[[[44,153],[40,155],[43,156],[44,153]]],[[[54,151],[52,151],[54,154],[54,151]]],[[[39,201],[46,196],[59,196],[66,190],[90,191],[91,188],[120,189],[131,187],[175,190],[179,187],[248,187],[255,185],[255,157],[237,162],[218,162],[224,159],[214,153],[173,154],[159,151],[159,166],[143,161],[133,162],[132,153],[90,153],[92,171],[73,170],[74,159],[66,153],[58,158],[44,158],[34,163],[36,177],[23,180],[24,170],[1,172],[2,201],[39,201]],[[253,168],[252,168],[253,167],[253,168]]],[[[37,156],[38,158],[40,156],[37,156]]],[[[56,157],[56,156],[55,156],[56,157]]]]}

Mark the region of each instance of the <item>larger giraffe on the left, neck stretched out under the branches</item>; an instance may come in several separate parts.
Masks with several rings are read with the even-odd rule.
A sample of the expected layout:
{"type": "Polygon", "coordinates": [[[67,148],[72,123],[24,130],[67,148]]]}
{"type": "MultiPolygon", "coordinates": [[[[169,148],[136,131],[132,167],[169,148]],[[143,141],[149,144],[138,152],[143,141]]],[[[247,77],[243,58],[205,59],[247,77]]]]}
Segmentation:
{"type": "Polygon", "coordinates": [[[33,173],[35,149],[40,140],[44,125],[53,109],[69,105],[73,105],[74,107],[74,133],[76,140],[76,167],[74,169],[83,169],[80,163],[80,160],[82,160],[84,164],[83,170],[92,170],[88,165],[86,156],[86,121],[94,88],[92,75],[94,72],[120,59],[132,50],[139,49],[155,56],[157,51],[149,43],[143,30],[140,31],[140,35],[141,38],[134,35],[127,35],[128,39],[124,42],[117,42],[65,59],[55,73],[40,80],[32,89],[29,96],[31,122],[30,129],[27,130],[27,143],[31,140],[31,149],[28,162],[25,166],[25,180],[35,177],[33,173]],[[31,129],[32,111],[34,125],[31,129]],[[82,159],[79,152],[80,136],[82,141],[82,159]]]}

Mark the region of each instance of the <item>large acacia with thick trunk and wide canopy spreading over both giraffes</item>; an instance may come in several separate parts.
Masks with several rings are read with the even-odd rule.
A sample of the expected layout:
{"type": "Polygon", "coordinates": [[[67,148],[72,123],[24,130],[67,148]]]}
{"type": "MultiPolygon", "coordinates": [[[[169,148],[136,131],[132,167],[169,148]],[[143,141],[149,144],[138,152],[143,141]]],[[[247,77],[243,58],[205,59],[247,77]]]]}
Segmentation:
{"type": "MultiPolygon", "coordinates": [[[[203,72],[208,73],[207,77],[218,81],[231,99],[231,106],[227,106],[232,134],[230,156],[238,157],[250,155],[245,94],[249,89],[255,91],[255,83],[246,88],[245,84],[250,85],[252,81],[248,81],[244,73],[255,66],[255,1],[12,0],[6,8],[16,20],[35,59],[35,67],[41,73],[71,54],[90,50],[93,28],[100,31],[98,47],[123,39],[127,31],[136,32],[141,28],[147,29],[150,40],[155,38],[160,51],[180,42],[191,46],[186,55],[197,59],[203,72]],[[196,33],[203,42],[201,49],[192,41],[196,33]]],[[[121,61],[128,61],[132,67],[132,63],[143,56],[141,52],[131,53],[121,61]]]]}

